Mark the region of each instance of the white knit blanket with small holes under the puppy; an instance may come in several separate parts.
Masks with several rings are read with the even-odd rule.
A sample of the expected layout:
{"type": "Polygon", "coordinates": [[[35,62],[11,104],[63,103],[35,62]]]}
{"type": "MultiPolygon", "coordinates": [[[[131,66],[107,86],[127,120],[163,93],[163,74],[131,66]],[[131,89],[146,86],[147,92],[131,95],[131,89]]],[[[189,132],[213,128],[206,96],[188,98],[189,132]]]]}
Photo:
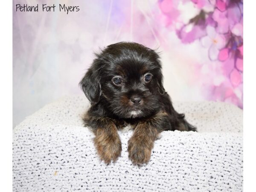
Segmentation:
{"type": "Polygon", "coordinates": [[[221,102],[175,102],[196,132],[164,131],[147,165],[128,160],[132,131],[119,132],[122,155],[99,160],[82,126],[85,96],[59,99],[13,131],[13,191],[242,191],[243,111],[221,102]]]}

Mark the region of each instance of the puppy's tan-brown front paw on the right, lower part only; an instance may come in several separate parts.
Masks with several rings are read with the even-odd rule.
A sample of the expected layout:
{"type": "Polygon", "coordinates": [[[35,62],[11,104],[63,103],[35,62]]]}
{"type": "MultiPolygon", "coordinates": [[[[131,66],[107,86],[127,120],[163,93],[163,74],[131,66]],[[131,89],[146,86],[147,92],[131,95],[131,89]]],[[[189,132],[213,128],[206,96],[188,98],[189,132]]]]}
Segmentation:
{"type": "Polygon", "coordinates": [[[139,138],[131,137],[128,141],[129,159],[134,164],[148,163],[151,157],[152,148],[152,142],[145,143],[139,138]]]}

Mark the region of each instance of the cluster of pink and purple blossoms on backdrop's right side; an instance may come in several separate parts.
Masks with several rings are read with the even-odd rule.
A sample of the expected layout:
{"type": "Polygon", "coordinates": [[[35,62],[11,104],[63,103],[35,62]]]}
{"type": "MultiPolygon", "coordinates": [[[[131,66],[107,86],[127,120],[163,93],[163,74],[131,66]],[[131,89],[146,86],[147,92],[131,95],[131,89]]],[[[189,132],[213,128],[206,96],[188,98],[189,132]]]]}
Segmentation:
{"type": "MultiPolygon", "coordinates": [[[[200,40],[210,61],[201,67],[209,99],[243,107],[243,1],[242,0],[160,0],[160,9],[171,20],[183,44],[200,40]],[[194,4],[195,16],[184,6],[194,4]],[[174,4],[176,3],[176,4],[174,4]],[[181,6],[181,7],[180,7],[181,6]],[[176,8],[177,7],[177,8],[176,8]],[[182,8],[182,9],[181,9],[182,8]],[[170,15],[174,11],[178,15],[170,15]],[[177,13],[176,12],[176,13],[177,13]],[[178,24],[177,24],[178,23],[178,24]],[[210,88],[210,89],[211,89],[210,88]]],[[[191,6],[191,5],[189,5],[191,6]]]]}

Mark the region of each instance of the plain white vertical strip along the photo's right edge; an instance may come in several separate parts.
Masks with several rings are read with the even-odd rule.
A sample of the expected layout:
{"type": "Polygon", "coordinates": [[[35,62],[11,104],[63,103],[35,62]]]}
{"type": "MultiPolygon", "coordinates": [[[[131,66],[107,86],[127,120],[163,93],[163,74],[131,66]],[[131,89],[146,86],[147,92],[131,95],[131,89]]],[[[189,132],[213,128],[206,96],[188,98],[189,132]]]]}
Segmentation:
{"type": "Polygon", "coordinates": [[[244,191],[255,189],[256,1],[244,2],[244,191]]]}

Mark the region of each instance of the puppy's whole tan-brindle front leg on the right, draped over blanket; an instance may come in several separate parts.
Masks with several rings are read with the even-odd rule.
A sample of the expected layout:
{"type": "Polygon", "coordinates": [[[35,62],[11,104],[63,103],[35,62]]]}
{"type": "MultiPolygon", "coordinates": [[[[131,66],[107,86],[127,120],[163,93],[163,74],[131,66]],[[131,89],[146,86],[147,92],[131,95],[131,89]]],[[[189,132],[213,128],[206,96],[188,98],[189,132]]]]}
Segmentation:
{"type": "Polygon", "coordinates": [[[147,122],[139,123],[128,141],[129,158],[134,164],[147,163],[151,157],[158,130],[147,122]]]}

